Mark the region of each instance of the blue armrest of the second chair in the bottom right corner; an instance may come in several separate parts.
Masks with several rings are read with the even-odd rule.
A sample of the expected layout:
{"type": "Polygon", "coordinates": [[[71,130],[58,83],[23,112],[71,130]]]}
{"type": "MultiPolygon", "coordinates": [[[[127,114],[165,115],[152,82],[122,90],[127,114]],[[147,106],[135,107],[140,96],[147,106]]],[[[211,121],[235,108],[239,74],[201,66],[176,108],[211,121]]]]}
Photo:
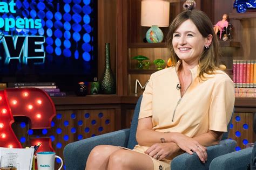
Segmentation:
{"type": "Polygon", "coordinates": [[[210,164],[210,169],[247,169],[251,160],[252,148],[245,148],[214,158],[210,164]]]}

